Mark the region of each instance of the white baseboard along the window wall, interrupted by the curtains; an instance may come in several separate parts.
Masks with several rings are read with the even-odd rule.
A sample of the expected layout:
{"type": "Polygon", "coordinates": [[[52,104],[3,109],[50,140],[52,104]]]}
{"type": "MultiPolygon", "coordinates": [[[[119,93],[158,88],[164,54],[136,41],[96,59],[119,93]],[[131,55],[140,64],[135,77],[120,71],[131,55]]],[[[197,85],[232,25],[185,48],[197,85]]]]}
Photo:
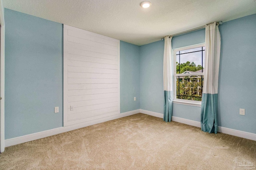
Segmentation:
{"type": "MultiPolygon", "coordinates": [[[[140,109],[140,113],[144,113],[144,114],[147,114],[147,115],[160,117],[160,118],[163,118],[163,116],[164,116],[162,113],[156,113],[156,112],[153,112],[153,111],[148,111],[148,110],[143,110],[143,109],[140,109]]],[[[192,120],[184,119],[184,118],[180,118],[180,117],[172,116],[172,121],[176,121],[176,122],[179,122],[179,123],[184,123],[186,125],[201,127],[201,123],[199,121],[192,121],[192,120]]],[[[235,130],[235,129],[229,129],[229,128],[221,127],[221,126],[218,127],[218,132],[256,141],[256,134],[255,133],[238,131],[238,130],[235,130]]]]}

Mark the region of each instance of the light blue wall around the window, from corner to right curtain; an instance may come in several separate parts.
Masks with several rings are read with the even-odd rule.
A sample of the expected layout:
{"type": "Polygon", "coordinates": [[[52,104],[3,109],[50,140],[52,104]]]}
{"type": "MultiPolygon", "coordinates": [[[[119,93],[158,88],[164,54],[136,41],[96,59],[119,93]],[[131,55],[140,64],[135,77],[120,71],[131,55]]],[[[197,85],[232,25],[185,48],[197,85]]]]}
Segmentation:
{"type": "MultiPolygon", "coordinates": [[[[204,43],[205,30],[172,38],[172,49],[204,43]]],[[[140,46],[140,108],[164,113],[164,41],[140,46]]],[[[200,121],[200,107],[173,104],[173,116],[200,121]],[[187,110],[190,110],[189,113],[187,110]]]]}

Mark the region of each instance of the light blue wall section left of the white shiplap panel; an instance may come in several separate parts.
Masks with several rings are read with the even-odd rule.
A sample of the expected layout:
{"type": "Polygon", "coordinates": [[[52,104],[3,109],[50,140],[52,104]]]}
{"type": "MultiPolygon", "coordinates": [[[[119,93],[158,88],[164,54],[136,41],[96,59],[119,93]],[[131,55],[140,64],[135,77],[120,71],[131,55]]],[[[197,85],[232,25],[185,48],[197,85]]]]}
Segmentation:
{"type": "Polygon", "coordinates": [[[4,19],[5,138],[61,127],[62,24],[8,9],[4,19]]]}

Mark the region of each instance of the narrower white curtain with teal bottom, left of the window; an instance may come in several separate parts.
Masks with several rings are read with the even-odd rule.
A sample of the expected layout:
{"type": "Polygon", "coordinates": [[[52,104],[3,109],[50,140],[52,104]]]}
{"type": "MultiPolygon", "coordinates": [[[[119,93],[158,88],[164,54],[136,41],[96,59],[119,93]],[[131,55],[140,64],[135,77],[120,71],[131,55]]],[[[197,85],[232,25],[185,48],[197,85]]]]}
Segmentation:
{"type": "Polygon", "coordinates": [[[164,37],[164,121],[172,119],[172,37],[164,37]]]}

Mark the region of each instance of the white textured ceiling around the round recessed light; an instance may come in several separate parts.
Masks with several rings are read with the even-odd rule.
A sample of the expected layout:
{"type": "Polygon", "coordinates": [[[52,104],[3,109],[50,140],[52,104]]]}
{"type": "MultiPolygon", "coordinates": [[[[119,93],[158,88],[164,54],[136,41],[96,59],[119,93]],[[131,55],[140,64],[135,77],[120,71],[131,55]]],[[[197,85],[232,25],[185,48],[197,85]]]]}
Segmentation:
{"type": "Polygon", "coordinates": [[[4,8],[135,45],[256,13],[255,0],[3,0],[4,8]]]}

